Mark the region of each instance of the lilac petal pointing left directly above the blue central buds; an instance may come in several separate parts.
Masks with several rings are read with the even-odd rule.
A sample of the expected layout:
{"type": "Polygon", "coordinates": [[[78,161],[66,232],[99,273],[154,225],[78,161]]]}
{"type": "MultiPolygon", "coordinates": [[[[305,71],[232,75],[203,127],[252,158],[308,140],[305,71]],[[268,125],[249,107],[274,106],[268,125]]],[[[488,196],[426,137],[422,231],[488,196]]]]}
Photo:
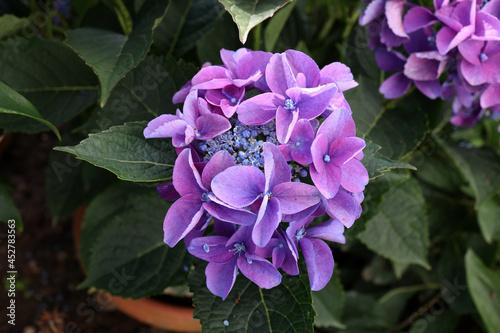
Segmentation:
{"type": "Polygon", "coordinates": [[[262,125],[276,117],[279,105],[284,105],[283,96],[264,93],[243,101],[238,107],[238,119],[246,125],[262,125]]]}

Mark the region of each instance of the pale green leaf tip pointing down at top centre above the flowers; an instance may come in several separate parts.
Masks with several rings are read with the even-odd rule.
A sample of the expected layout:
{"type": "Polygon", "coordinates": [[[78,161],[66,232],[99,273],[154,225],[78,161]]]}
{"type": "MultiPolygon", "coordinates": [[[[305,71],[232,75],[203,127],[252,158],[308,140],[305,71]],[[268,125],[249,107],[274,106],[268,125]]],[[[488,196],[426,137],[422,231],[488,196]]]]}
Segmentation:
{"type": "Polygon", "coordinates": [[[290,0],[219,0],[233,17],[240,31],[240,42],[245,44],[248,33],[260,22],[274,15],[290,0]]]}

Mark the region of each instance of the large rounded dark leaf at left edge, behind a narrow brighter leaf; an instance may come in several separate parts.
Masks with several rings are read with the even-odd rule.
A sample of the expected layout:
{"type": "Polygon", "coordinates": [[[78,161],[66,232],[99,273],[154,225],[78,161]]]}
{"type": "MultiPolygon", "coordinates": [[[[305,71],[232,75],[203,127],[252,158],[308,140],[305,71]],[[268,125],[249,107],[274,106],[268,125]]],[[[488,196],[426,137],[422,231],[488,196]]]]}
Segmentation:
{"type": "MultiPolygon", "coordinates": [[[[0,43],[0,81],[22,94],[43,119],[59,126],[94,104],[97,78],[67,46],[47,39],[0,43]],[[36,75],[35,75],[36,74],[36,75]]],[[[46,125],[24,116],[0,115],[6,131],[36,133],[46,125]]]]}

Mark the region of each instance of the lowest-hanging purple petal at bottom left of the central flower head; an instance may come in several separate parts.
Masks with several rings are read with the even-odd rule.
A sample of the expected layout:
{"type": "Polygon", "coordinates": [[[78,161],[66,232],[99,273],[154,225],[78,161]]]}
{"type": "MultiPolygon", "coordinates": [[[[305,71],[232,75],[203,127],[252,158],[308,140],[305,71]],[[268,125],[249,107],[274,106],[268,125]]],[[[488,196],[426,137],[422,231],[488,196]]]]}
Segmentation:
{"type": "Polygon", "coordinates": [[[207,276],[207,287],[215,296],[222,297],[225,300],[233,288],[236,276],[238,275],[238,266],[236,258],[224,264],[209,263],[205,269],[207,276]]]}

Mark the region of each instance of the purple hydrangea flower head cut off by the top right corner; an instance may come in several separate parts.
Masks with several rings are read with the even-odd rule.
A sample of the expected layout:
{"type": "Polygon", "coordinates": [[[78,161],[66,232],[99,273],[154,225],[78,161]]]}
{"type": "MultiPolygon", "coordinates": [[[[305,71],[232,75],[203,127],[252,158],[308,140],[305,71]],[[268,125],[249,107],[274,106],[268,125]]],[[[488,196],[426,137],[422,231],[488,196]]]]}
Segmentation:
{"type": "Polygon", "coordinates": [[[434,0],[430,7],[373,0],[359,23],[371,31],[378,66],[396,72],[380,86],[386,98],[413,82],[431,99],[453,99],[454,125],[473,126],[485,112],[500,116],[499,0],[434,0]]]}

